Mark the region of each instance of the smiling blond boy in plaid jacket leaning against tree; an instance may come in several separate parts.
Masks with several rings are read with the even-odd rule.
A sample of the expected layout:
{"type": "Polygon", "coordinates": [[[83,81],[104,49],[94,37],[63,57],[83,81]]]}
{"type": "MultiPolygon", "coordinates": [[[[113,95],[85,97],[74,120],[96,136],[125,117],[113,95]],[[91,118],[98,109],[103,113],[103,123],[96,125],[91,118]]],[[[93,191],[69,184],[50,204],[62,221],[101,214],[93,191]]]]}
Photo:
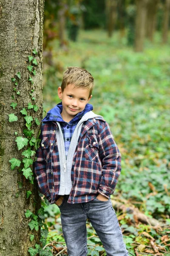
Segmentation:
{"type": "Polygon", "coordinates": [[[69,256],[87,255],[86,220],[91,221],[108,256],[127,256],[111,204],[121,155],[107,122],[88,104],[94,78],[68,67],[58,88],[61,103],[42,120],[35,175],[40,192],[61,212],[69,256]]]}

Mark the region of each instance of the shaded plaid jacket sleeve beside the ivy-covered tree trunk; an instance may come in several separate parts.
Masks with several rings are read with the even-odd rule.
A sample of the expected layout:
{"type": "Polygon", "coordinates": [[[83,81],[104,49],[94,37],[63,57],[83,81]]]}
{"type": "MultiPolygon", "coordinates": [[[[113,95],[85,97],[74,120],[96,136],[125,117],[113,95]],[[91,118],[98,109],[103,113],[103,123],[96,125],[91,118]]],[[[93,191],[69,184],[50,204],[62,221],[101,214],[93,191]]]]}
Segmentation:
{"type": "MultiPolygon", "coordinates": [[[[41,139],[41,135],[40,135],[41,139]]],[[[38,148],[36,152],[37,160],[34,163],[34,173],[35,173],[35,179],[37,181],[38,188],[42,195],[45,196],[45,198],[48,199],[49,202],[51,202],[51,195],[48,189],[48,183],[47,183],[47,173],[46,173],[46,161],[44,159],[43,155],[43,149],[41,148],[41,142],[40,147],[38,148]]]]}

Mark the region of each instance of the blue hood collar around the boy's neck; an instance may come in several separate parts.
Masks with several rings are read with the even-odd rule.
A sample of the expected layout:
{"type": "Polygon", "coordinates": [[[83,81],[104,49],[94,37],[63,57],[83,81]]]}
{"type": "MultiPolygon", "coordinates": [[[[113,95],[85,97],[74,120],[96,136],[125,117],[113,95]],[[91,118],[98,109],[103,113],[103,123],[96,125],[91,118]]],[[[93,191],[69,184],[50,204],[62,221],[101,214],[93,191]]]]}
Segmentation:
{"type": "MultiPolygon", "coordinates": [[[[82,118],[82,116],[84,116],[85,113],[91,110],[93,110],[93,106],[89,103],[86,104],[85,109],[82,112],[79,112],[76,116],[74,116],[74,118],[71,119],[69,123],[78,122],[82,118]]],[[[42,122],[49,122],[49,121],[65,122],[62,119],[61,113],[62,113],[62,102],[60,102],[50,111],[48,111],[47,115],[42,119],[42,122]]]]}

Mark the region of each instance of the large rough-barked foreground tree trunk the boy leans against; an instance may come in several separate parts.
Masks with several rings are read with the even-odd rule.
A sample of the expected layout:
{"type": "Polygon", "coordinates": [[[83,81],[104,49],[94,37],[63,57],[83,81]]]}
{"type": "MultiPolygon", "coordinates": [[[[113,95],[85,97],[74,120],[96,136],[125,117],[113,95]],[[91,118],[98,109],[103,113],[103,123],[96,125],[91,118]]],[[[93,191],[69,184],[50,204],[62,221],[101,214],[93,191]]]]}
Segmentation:
{"type": "Polygon", "coordinates": [[[40,208],[40,197],[36,185],[28,181],[33,180],[33,176],[30,174],[26,179],[20,171],[24,170],[23,163],[20,169],[11,169],[9,160],[16,158],[22,161],[22,152],[31,147],[28,143],[19,150],[15,142],[17,137],[29,139],[23,134],[23,129],[27,129],[24,116],[33,117],[32,126],[29,128],[28,125],[28,128],[34,130],[35,138],[40,129],[35,118],[42,118],[44,0],[0,1],[0,256],[28,256],[28,247],[39,243],[40,229],[39,232],[30,230],[28,222],[31,218],[26,218],[25,212],[29,209],[36,214],[36,209],[40,208]],[[33,49],[37,54],[32,52],[33,49]],[[28,62],[28,55],[34,56],[37,65],[36,61],[28,62]],[[28,65],[36,70],[35,75],[28,71],[28,65]],[[28,81],[29,77],[34,83],[28,81]],[[16,81],[12,82],[11,78],[16,81]],[[10,106],[12,102],[13,105],[17,103],[14,109],[10,106]],[[31,103],[30,110],[28,103],[31,103]],[[36,105],[39,107],[37,112],[36,105]],[[26,108],[27,115],[20,113],[23,108],[26,108]],[[9,122],[11,113],[17,116],[17,121],[9,122]],[[32,192],[28,199],[27,191],[32,192]],[[32,242],[30,234],[35,236],[32,242]]]}

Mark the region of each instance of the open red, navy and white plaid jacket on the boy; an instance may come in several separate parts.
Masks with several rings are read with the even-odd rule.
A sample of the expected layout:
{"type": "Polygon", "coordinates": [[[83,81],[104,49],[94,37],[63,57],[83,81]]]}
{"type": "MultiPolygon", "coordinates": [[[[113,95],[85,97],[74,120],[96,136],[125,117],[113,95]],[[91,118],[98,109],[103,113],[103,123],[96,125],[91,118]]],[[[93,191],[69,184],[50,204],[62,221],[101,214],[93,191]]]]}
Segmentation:
{"type": "MultiPolygon", "coordinates": [[[[56,129],[56,122],[42,123],[41,143],[35,162],[39,190],[50,204],[59,198],[60,165],[56,129]]],[[[108,123],[100,118],[88,119],[82,125],[74,153],[68,203],[85,203],[99,193],[109,198],[120,172],[121,154],[108,123]]]]}

